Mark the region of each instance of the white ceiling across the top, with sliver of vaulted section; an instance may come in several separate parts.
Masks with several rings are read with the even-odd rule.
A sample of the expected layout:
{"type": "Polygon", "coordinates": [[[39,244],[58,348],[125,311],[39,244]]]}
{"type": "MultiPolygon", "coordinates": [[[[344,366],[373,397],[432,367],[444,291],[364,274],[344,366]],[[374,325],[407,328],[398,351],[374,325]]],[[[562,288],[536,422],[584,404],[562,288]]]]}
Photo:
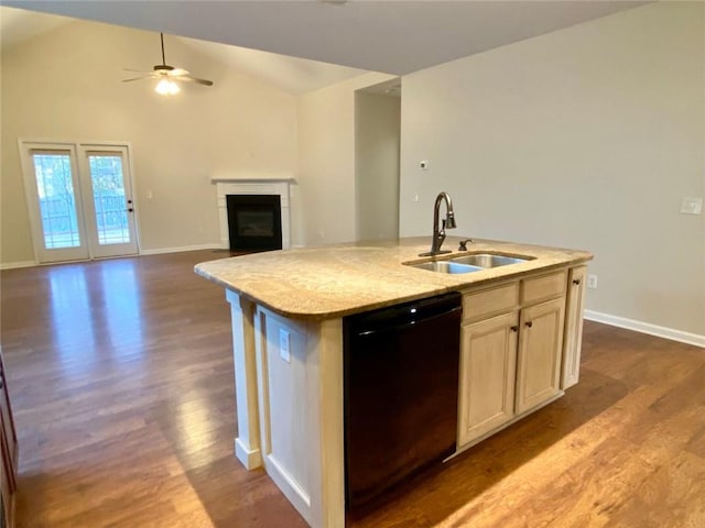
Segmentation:
{"type": "MultiPolygon", "coordinates": [[[[405,75],[649,2],[2,0],[2,3],[351,68],[405,75]]],[[[3,42],[7,42],[6,32],[12,32],[6,29],[6,11],[2,9],[3,42]]],[[[51,21],[41,23],[51,24],[51,21]]],[[[210,43],[195,45],[215,53],[210,43]]],[[[328,65],[306,61],[286,61],[270,54],[252,54],[241,48],[218,52],[230,54],[239,67],[251,68],[253,75],[269,75],[271,79],[288,75],[296,77],[294,85],[297,88],[289,91],[307,91],[359,73],[347,68],[329,69],[328,65]]]]}

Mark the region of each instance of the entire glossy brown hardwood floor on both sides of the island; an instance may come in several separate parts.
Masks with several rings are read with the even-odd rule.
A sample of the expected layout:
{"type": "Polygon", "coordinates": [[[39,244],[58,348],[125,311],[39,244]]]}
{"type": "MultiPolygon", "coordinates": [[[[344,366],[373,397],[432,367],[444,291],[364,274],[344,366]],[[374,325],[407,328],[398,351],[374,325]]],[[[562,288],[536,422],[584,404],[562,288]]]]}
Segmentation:
{"type": "MultiPolygon", "coordinates": [[[[4,271],[20,527],[303,527],[232,457],[228,305],[202,251],[4,271]]],[[[586,323],[581,384],[361,527],[705,527],[705,351],[586,323]]]]}

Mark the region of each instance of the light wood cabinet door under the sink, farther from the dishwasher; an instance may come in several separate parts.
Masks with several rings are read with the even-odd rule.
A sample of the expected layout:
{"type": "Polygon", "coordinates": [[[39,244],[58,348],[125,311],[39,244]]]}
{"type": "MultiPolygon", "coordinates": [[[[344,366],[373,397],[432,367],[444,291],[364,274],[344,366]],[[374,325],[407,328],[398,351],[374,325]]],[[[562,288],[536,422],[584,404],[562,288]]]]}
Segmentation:
{"type": "Polygon", "coordinates": [[[558,394],[565,298],[521,310],[517,414],[558,394]]]}

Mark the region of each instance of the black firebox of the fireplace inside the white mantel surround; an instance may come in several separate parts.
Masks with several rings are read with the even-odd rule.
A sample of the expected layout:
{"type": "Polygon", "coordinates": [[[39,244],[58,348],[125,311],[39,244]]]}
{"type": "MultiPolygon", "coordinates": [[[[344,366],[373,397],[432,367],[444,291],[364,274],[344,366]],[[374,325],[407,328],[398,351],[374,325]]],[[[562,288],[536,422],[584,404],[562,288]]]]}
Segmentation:
{"type": "Polygon", "coordinates": [[[232,251],[282,249],[282,207],[276,195],[227,195],[232,251]]]}

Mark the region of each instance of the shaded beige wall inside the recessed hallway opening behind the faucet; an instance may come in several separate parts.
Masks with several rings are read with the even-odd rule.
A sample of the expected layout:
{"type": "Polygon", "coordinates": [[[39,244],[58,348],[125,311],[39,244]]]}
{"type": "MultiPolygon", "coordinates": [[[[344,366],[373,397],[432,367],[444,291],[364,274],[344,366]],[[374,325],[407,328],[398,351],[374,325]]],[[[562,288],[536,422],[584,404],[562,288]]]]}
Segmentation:
{"type": "Polygon", "coordinates": [[[399,237],[401,98],[355,96],[357,240],[399,237]]]}

